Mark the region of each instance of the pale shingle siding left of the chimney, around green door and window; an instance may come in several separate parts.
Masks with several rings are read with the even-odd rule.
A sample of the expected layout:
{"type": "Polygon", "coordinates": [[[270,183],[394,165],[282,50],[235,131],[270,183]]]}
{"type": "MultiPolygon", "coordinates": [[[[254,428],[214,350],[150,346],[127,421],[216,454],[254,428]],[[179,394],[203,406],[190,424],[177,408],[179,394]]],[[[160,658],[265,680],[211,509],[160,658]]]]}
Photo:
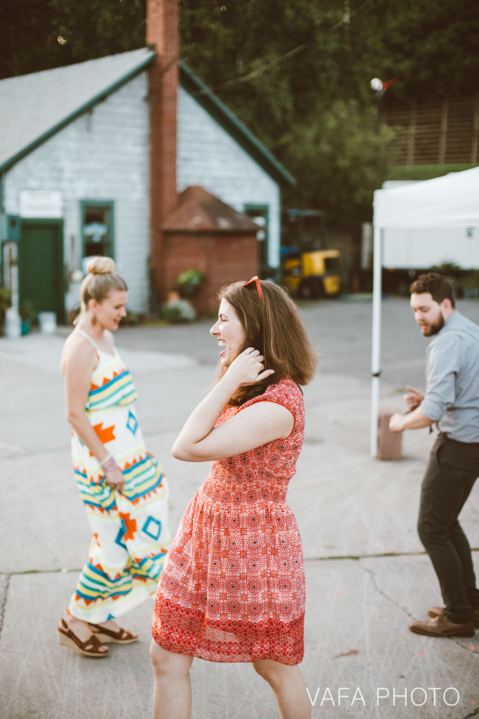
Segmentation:
{"type": "MultiPolygon", "coordinates": [[[[80,267],[80,201],[113,201],[116,266],[129,285],[132,311],[145,311],[148,305],[147,94],[143,72],[17,162],[5,179],[7,214],[19,213],[22,190],[62,192],[67,270],[80,267]]],[[[75,286],[65,298],[66,308],[78,301],[75,286]]]]}

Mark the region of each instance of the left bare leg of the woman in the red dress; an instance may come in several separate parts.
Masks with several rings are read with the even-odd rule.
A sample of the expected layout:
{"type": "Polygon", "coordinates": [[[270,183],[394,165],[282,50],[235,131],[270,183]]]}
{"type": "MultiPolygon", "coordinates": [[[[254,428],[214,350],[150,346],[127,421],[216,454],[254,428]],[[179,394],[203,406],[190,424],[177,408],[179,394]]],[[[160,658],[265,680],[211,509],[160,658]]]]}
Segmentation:
{"type": "Polygon", "coordinates": [[[152,640],[153,719],[190,719],[192,656],[175,654],[152,640]]]}

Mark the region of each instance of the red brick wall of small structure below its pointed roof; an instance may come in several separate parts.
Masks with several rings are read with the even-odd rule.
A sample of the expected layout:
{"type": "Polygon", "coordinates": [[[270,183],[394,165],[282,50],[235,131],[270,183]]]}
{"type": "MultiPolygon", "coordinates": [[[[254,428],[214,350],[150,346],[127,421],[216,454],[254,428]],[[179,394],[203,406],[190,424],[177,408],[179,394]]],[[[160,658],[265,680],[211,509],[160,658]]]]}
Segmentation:
{"type": "Polygon", "coordinates": [[[218,308],[216,295],[225,284],[249,280],[258,271],[256,234],[164,234],[162,286],[174,287],[184,270],[205,273],[192,305],[200,315],[218,308]]]}

